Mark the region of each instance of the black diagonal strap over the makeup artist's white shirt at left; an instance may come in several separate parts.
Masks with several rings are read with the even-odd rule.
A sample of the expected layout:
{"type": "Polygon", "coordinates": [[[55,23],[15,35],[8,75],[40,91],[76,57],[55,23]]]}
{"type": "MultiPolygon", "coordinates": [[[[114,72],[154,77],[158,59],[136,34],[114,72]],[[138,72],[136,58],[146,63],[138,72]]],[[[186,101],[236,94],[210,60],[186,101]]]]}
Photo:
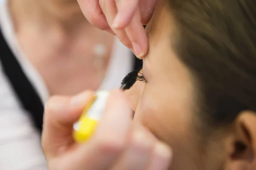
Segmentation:
{"type": "Polygon", "coordinates": [[[23,108],[34,120],[35,127],[42,131],[44,106],[33,85],[24,74],[20,64],[4,40],[0,29],[0,60],[3,71],[11,82],[23,108]]]}

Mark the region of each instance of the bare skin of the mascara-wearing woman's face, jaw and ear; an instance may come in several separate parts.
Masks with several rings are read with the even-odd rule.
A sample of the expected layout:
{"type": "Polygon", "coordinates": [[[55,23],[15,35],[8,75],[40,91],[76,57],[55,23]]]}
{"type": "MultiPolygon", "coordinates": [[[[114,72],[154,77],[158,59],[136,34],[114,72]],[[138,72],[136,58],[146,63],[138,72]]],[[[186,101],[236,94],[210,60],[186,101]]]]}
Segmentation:
{"type": "MultiPolygon", "coordinates": [[[[131,102],[132,108],[136,109],[134,122],[143,125],[157,139],[172,146],[174,157],[169,170],[255,168],[255,159],[251,162],[249,159],[250,154],[255,153],[255,148],[250,149],[255,141],[248,142],[240,124],[247,122],[245,129],[255,130],[252,124],[256,120],[255,113],[244,111],[233,125],[215,127],[208,131],[208,136],[200,132],[200,128],[206,127],[202,127],[201,122],[204,120],[196,111],[199,107],[195,102],[198,89],[189,68],[172,51],[175,22],[164,1],[158,4],[146,31],[149,52],[143,58],[142,71],[147,82],[144,85],[141,82],[135,83],[127,95],[143,89],[136,93],[142,94],[135,99],[138,103],[134,105],[134,101],[131,102]],[[247,150],[241,153],[237,151],[234,146],[236,141],[244,142],[248,146],[247,150]],[[237,152],[241,154],[238,158],[230,156],[237,152]]],[[[250,133],[249,136],[255,134],[250,133]]]]}

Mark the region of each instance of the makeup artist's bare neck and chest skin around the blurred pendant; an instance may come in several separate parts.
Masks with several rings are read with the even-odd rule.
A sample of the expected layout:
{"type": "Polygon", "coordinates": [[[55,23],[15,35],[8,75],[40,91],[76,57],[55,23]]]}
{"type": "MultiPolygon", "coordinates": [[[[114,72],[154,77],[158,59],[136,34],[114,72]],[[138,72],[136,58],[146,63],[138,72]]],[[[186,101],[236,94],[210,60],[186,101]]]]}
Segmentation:
{"type": "Polygon", "coordinates": [[[18,45],[44,79],[50,95],[99,88],[102,77],[93,66],[93,45],[100,42],[107,47],[102,76],[114,37],[91,26],[76,0],[10,0],[9,9],[18,45]]]}

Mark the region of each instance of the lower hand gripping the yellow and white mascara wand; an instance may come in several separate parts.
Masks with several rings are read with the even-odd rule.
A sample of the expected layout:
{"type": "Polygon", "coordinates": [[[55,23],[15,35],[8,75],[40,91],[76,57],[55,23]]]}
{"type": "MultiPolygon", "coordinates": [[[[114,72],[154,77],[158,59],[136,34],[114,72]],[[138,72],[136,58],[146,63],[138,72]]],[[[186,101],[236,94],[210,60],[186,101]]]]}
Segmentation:
{"type": "MultiPolygon", "coordinates": [[[[132,122],[131,114],[120,90],[98,92],[96,96],[93,92],[84,92],[73,98],[51,98],[45,107],[42,134],[49,170],[165,170],[171,160],[169,147],[158,141],[145,127],[132,122]],[[88,105],[93,101],[91,99],[95,99],[95,102],[88,105]],[[105,105],[96,107],[97,103],[102,102],[105,105]],[[91,107],[84,110],[86,106],[91,107]],[[81,116],[82,111],[86,114],[81,116]],[[93,119],[93,113],[99,111],[102,114],[94,117],[97,118],[96,123],[87,124],[90,127],[87,130],[90,130],[84,128],[85,138],[84,129],[77,124],[74,126],[80,133],[80,137],[75,135],[79,143],[75,142],[74,123],[81,117],[81,125],[83,116],[88,123],[93,119]]],[[[82,126],[86,127],[86,124],[82,126]]]]}

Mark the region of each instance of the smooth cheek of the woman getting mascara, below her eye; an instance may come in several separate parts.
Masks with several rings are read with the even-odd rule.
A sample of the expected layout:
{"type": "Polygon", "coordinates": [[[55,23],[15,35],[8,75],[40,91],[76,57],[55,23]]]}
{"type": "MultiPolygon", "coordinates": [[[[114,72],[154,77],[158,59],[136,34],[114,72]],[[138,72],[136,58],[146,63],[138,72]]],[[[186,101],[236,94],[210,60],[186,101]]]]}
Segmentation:
{"type": "MultiPolygon", "coordinates": [[[[146,85],[147,86],[147,85],[146,85]]],[[[191,116],[182,100],[145,87],[134,115],[134,121],[147,127],[158,139],[174,144],[183,141],[191,125],[191,116]],[[174,102],[170,102],[174,101],[174,102]]],[[[191,115],[191,114],[190,114],[191,115]]]]}

